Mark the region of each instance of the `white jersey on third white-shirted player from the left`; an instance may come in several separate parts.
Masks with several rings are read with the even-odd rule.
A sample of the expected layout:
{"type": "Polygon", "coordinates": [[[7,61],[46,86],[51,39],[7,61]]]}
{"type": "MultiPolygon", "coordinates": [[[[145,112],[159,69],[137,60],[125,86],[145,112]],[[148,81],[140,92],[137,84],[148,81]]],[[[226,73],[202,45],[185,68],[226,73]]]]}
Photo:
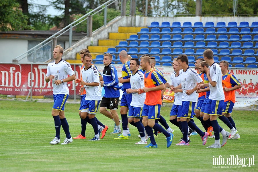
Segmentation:
{"type": "MultiPolygon", "coordinates": [[[[134,75],[131,75],[130,79],[131,89],[139,89],[144,87],[144,75],[137,71],[134,75]]],[[[146,98],[146,93],[132,93],[131,106],[133,107],[143,107],[146,98]]]]}

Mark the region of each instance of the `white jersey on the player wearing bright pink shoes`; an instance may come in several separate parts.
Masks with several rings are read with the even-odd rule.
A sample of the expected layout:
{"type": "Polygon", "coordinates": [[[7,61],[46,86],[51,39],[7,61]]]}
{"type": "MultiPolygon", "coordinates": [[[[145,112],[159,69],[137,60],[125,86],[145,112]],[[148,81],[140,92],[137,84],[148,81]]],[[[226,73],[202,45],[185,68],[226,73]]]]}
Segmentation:
{"type": "Polygon", "coordinates": [[[183,69],[179,71],[179,76],[181,79],[181,85],[183,89],[182,101],[192,101],[197,102],[196,100],[196,91],[191,95],[185,93],[186,90],[191,90],[196,87],[197,83],[203,82],[200,75],[192,68],[188,67],[184,72],[183,69]]]}

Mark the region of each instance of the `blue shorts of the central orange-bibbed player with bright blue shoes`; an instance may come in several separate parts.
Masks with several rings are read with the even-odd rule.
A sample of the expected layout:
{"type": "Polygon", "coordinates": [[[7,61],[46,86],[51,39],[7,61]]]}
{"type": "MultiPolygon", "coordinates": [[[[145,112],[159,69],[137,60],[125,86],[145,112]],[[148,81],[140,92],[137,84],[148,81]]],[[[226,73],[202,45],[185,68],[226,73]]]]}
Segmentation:
{"type": "Polygon", "coordinates": [[[161,105],[143,105],[142,116],[148,117],[148,120],[159,119],[161,105]]]}

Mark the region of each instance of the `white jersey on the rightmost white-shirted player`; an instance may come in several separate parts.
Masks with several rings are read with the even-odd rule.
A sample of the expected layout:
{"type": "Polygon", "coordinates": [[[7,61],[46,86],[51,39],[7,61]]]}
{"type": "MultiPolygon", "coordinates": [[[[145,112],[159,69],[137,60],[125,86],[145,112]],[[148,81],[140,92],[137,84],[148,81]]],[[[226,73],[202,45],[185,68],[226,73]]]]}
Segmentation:
{"type": "Polygon", "coordinates": [[[210,77],[212,81],[217,82],[217,84],[215,87],[212,87],[212,85],[209,82],[209,87],[210,87],[209,99],[224,100],[225,95],[222,87],[222,73],[221,73],[220,65],[218,65],[215,62],[210,66],[210,77]]]}

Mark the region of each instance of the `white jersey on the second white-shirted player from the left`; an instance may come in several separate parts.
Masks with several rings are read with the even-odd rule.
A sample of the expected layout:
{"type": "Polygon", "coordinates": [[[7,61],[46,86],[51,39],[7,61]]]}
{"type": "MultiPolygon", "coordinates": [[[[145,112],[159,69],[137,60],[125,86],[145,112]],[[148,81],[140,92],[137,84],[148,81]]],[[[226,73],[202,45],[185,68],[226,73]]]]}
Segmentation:
{"type": "MultiPolygon", "coordinates": [[[[87,70],[85,68],[81,69],[81,77],[86,83],[99,83],[99,72],[92,65],[87,70]]],[[[84,89],[86,91],[85,100],[101,100],[101,93],[98,86],[84,85],[84,89]]]]}

